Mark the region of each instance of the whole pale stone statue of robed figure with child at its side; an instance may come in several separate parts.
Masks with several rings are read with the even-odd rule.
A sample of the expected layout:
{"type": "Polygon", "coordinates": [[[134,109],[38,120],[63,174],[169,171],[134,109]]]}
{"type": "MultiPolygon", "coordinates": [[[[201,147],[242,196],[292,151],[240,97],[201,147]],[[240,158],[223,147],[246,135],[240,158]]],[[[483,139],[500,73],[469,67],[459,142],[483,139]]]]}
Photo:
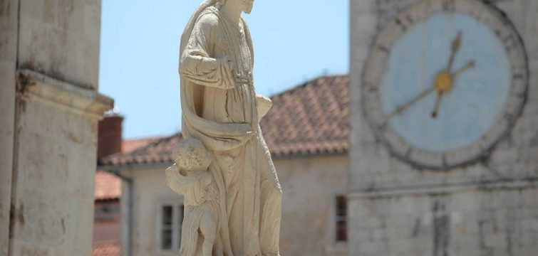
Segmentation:
{"type": "Polygon", "coordinates": [[[259,129],[271,101],[254,92],[254,52],[241,17],[252,4],[207,0],[182,34],[182,135],[200,142],[180,144],[177,151],[200,165],[177,159],[166,172],[167,184],[185,194],[182,256],[279,255],[282,192],[259,129]],[[207,170],[200,145],[209,159],[207,170]]]}

